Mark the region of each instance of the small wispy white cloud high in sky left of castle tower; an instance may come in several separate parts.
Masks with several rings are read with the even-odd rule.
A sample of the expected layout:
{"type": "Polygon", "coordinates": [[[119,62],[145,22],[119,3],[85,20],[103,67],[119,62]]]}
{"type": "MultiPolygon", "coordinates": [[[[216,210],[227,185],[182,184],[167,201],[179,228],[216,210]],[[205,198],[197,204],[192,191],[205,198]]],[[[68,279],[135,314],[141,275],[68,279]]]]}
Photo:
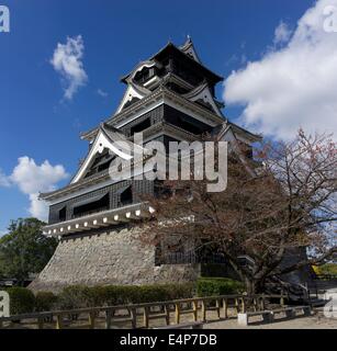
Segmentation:
{"type": "Polygon", "coordinates": [[[88,76],[83,69],[85,44],[81,35],[67,37],[66,44],[57,44],[50,64],[65,80],[65,98],[71,100],[77,90],[85,86],[88,76]]]}

